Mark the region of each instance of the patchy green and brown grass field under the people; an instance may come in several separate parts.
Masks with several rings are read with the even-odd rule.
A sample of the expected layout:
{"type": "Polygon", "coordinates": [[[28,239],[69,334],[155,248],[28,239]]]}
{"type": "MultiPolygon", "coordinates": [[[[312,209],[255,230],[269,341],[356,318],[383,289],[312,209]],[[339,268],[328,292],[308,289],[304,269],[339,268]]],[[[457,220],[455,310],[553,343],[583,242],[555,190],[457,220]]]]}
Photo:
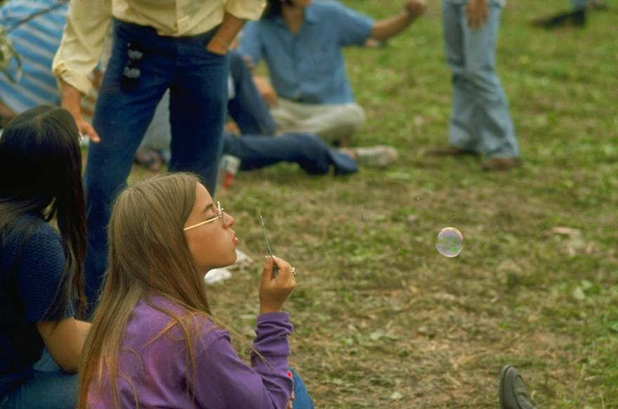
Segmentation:
{"type": "MultiPolygon", "coordinates": [[[[375,18],[401,6],[343,3],[375,18]]],[[[346,51],[367,112],[353,143],[393,145],[400,161],[350,177],[239,173],[217,199],[255,263],[209,287],[213,309],[252,339],[261,214],[298,271],[291,365],[318,408],[497,408],[507,363],[540,408],[618,408],[618,1],[555,31],[529,22],[567,0],[508,2],[498,71],[524,165],[507,173],[426,155],[447,142],[450,101],[428,3],[386,47],[346,51]],[[465,240],[452,259],[435,250],[447,226],[465,240]]]]}

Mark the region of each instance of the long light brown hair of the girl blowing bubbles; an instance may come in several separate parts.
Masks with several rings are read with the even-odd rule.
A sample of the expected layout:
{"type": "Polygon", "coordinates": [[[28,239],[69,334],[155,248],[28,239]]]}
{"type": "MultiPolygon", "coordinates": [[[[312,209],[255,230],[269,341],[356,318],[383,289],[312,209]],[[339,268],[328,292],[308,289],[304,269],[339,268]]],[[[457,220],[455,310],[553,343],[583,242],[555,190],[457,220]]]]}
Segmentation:
{"type": "MultiPolygon", "coordinates": [[[[117,378],[124,377],[118,373],[122,338],[131,311],[140,298],[148,302],[149,294],[169,297],[187,311],[178,316],[151,304],[171,317],[166,329],[178,325],[183,331],[188,364],[195,373],[190,340],[196,329],[191,322],[196,315],[210,315],[210,307],[183,226],[193,208],[198,182],[197,176],[189,173],[159,175],[124,190],[114,203],[108,227],[109,267],[84,344],[78,409],[88,407],[89,391],[102,394],[106,389],[111,392],[113,407],[120,407],[117,378]]],[[[187,385],[188,394],[189,389],[187,385]]]]}

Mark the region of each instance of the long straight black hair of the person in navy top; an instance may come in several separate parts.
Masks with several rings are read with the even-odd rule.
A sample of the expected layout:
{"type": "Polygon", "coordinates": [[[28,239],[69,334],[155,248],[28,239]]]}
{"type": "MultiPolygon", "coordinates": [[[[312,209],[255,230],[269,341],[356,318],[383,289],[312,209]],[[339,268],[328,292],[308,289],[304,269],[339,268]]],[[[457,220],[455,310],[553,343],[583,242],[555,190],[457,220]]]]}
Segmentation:
{"type": "Polygon", "coordinates": [[[0,137],[0,246],[13,237],[25,236],[27,241],[37,221],[16,224],[25,214],[55,219],[63,239],[65,267],[60,283],[65,286],[56,290],[54,305],[65,309],[74,300],[84,307],[86,211],[79,130],[63,108],[29,109],[9,122],[0,137]]]}

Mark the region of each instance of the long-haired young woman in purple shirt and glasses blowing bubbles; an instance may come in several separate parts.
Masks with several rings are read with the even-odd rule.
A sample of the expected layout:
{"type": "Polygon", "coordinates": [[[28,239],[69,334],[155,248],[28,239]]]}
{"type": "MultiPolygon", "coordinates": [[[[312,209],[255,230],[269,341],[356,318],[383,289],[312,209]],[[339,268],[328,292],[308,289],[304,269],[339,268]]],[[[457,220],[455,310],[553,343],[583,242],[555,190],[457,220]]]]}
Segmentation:
{"type": "Polygon", "coordinates": [[[288,262],[267,257],[264,264],[251,366],[211,317],[203,277],[235,262],[233,224],[188,173],[119,195],[105,286],[84,347],[79,409],[289,408],[295,389],[294,408],[303,406],[303,384],[294,385],[288,372],[292,326],[282,305],[296,285],[288,262]]]}

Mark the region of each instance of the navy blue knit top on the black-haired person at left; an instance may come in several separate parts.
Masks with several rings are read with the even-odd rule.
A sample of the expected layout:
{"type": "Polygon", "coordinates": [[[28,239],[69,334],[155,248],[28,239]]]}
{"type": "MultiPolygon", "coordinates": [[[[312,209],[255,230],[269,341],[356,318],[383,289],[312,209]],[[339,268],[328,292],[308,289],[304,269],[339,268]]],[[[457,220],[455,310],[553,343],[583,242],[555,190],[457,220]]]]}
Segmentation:
{"type": "Polygon", "coordinates": [[[0,232],[0,397],[41,357],[35,324],[74,315],[70,302],[58,311],[64,265],[60,234],[41,217],[22,215],[0,232]]]}

